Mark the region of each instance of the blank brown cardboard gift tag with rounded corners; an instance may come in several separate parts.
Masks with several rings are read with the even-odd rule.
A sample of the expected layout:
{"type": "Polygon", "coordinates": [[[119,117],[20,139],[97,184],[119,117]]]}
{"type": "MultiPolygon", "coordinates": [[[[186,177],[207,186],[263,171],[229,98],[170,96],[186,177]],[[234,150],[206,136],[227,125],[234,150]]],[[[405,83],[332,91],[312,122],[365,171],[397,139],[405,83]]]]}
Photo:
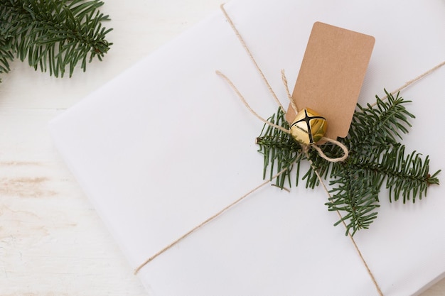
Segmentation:
{"type": "MultiPolygon", "coordinates": [[[[328,122],[326,137],[348,135],[375,38],[326,23],[314,23],[292,98],[328,122]]],[[[286,120],[294,121],[289,105],[286,120]]]]}

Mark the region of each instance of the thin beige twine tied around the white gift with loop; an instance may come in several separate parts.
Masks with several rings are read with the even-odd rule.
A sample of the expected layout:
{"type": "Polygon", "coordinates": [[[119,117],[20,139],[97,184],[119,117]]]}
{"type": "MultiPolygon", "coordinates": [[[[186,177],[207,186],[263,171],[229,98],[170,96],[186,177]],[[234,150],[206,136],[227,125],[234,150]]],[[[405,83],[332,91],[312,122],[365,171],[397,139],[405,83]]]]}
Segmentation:
{"type": "MultiPolygon", "coordinates": [[[[284,111],[284,108],[281,104],[281,102],[279,102],[279,99],[277,97],[277,95],[275,94],[274,90],[272,89],[272,87],[269,84],[269,81],[267,80],[267,78],[265,77],[264,73],[262,72],[261,68],[259,67],[259,65],[257,64],[257,61],[254,59],[252,53],[250,52],[250,49],[247,48],[247,45],[244,41],[244,39],[242,38],[240,32],[237,30],[237,28],[235,27],[235,24],[232,22],[232,19],[230,18],[230,16],[227,14],[227,11],[225,11],[224,9],[224,4],[221,4],[220,9],[223,11],[225,18],[227,19],[228,23],[230,24],[230,26],[232,27],[232,30],[235,32],[235,35],[237,35],[238,40],[240,40],[240,43],[242,44],[242,47],[245,48],[247,55],[249,55],[250,60],[252,60],[252,62],[254,63],[255,68],[257,69],[257,71],[259,72],[259,75],[261,75],[263,82],[267,85],[267,88],[269,89],[269,92],[272,94],[272,97],[274,98],[275,102],[277,102],[277,104],[280,106],[280,108],[282,108],[282,110],[284,111]]],[[[439,65],[436,65],[435,67],[431,68],[430,70],[428,70],[427,72],[424,72],[422,75],[419,75],[418,77],[415,77],[413,80],[409,80],[408,82],[406,82],[404,85],[402,85],[402,87],[399,87],[398,89],[396,89],[395,91],[391,92],[391,94],[395,94],[397,92],[400,92],[402,89],[408,87],[411,84],[414,84],[414,82],[417,82],[418,80],[421,80],[423,77],[429,75],[431,72],[434,72],[434,70],[439,69],[439,67],[442,67],[443,65],[445,65],[445,61],[439,63],[439,65]]],[[[242,96],[242,94],[240,93],[240,91],[235,87],[235,85],[225,76],[223,75],[223,73],[217,71],[217,74],[220,75],[221,77],[223,77],[225,79],[225,81],[230,84],[230,87],[232,87],[232,89],[234,89],[234,91],[237,93],[238,97],[240,97],[241,101],[245,104],[245,106],[247,107],[247,109],[249,109],[252,114],[254,114],[254,116],[257,116],[258,119],[260,119],[261,121],[263,121],[265,124],[269,124],[271,126],[274,126],[276,128],[279,128],[280,130],[289,133],[288,130],[286,130],[285,128],[282,128],[282,126],[277,126],[275,124],[272,124],[271,122],[263,119],[261,116],[259,116],[251,107],[249,104],[247,104],[246,100],[244,99],[244,97],[242,96]]],[[[296,109],[296,105],[294,100],[291,98],[291,94],[289,92],[289,87],[287,86],[287,80],[286,80],[286,76],[284,75],[284,70],[282,70],[282,80],[284,83],[284,87],[286,89],[286,94],[287,97],[289,98],[290,102],[291,102],[291,106],[294,109],[294,111],[297,111],[296,109]]],[[[383,97],[382,100],[387,99],[387,97],[383,97]]],[[[374,106],[375,104],[373,104],[372,106],[374,106]]],[[[297,113],[297,112],[296,112],[297,113]]],[[[345,155],[343,155],[343,157],[341,158],[328,158],[326,157],[326,155],[324,155],[323,151],[316,145],[312,145],[313,148],[315,148],[318,153],[320,153],[321,157],[325,158],[328,161],[333,161],[333,162],[338,162],[338,161],[343,161],[348,157],[348,149],[345,148],[345,146],[343,146],[342,143],[330,139],[330,138],[326,138],[323,137],[324,141],[329,141],[331,143],[334,143],[338,146],[341,146],[341,148],[343,149],[343,151],[345,152],[345,155]]],[[[305,145],[303,146],[303,151],[307,156],[309,150],[309,146],[305,145]]],[[[309,159],[309,158],[308,158],[309,159]]],[[[318,170],[316,170],[316,168],[314,167],[313,163],[311,162],[311,160],[309,160],[309,163],[311,164],[314,172],[316,173],[316,176],[318,178],[318,181],[320,182],[320,184],[323,187],[323,190],[326,192],[326,194],[328,195],[328,198],[331,198],[331,193],[329,192],[328,188],[326,187],[325,183],[323,182],[323,178],[321,177],[320,173],[318,172],[318,170]]],[[[227,210],[231,209],[232,207],[234,207],[236,204],[240,203],[243,199],[245,199],[246,197],[250,196],[250,194],[254,193],[255,191],[259,190],[261,187],[264,187],[264,185],[269,184],[270,182],[272,182],[272,180],[274,180],[276,177],[278,177],[279,175],[282,175],[284,172],[286,172],[287,168],[285,168],[284,170],[281,170],[280,172],[278,172],[276,175],[273,175],[269,180],[266,180],[264,182],[262,182],[261,184],[259,184],[257,187],[254,187],[252,190],[250,190],[249,192],[245,193],[244,195],[242,195],[242,197],[238,198],[235,200],[235,202],[232,202],[231,204],[228,204],[226,207],[224,207],[223,209],[221,209],[219,212],[215,213],[213,216],[210,216],[208,219],[205,219],[205,221],[201,222],[200,224],[198,224],[197,226],[193,227],[193,229],[191,229],[190,231],[188,231],[186,234],[183,234],[183,236],[180,236],[178,239],[176,239],[176,241],[171,242],[170,244],[168,244],[168,246],[164,247],[163,249],[161,249],[160,251],[158,251],[157,253],[155,253],[153,256],[151,256],[150,258],[146,259],[146,261],[144,261],[144,263],[141,263],[141,265],[139,265],[135,270],[134,270],[134,274],[136,275],[137,273],[139,273],[139,271],[144,268],[145,265],[147,265],[148,263],[150,263],[151,261],[153,261],[155,258],[157,258],[158,256],[160,256],[162,253],[168,251],[170,248],[172,248],[173,246],[176,246],[177,243],[179,243],[180,241],[182,241],[183,239],[186,239],[186,237],[190,236],[191,234],[193,234],[193,232],[197,231],[198,229],[200,229],[202,226],[205,226],[206,224],[208,224],[210,221],[213,221],[215,218],[217,218],[218,216],[220,216],[221,214],[223,214],[224,212],[226,212],[227,210]]],[[[341,216],[341,213],[339,211],[336,211],[338,216],[340,217],[340,219],[342,220],[342,224],[343,226],[346,227],[345,221],[343,221],[343,216],[341,216]]],[[[377,290],[377,292],[379,293],[380,296],[383,296],[382,290],[380,289],[380,286],[377,283],[377,280],[375,280],[375,276],[372,274],[372,271],[370,270],[368,263],[366,263],[365,258],[363,257],[362,252],[360,251],[360,248],[358,248],[357,243],[355,243],[355,240],[353,239],[353,236],[348,233],[348,237],[350,238],[350,241],[353,243],[353,246],[355,248],[355,251],[357,251],[358,256],[360,257],[360,260],[363,262],[363,264],[365,265],[366,270],[368,271],[368,274],[370,275],[370,278],[372,280],[372,283],[374,283],[375,288],[377,290]]]]}

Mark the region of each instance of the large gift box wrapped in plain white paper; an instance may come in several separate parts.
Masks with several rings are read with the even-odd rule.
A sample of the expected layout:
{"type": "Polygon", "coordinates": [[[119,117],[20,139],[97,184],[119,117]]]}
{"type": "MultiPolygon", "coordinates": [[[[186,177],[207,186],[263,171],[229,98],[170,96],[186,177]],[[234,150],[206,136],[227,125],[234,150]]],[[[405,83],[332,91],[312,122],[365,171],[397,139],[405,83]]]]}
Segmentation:
{"type": "MultiPolygon", "coordinates": [[[[286,106],[314,22],[373,35],[358,102],[375,102],[445,60],[445,2],[253,1],[225,5],[286,106]]],[[[50,123],[55,145],[136,268],[263,182],[254,138],[277,106],[218,12],[50,123]]],[[[445,67],[404,89],[416,115],[407,151],[445,168],[445,67]]],[[[307,166],[305,167],[307,168],[307,166]]],[[[304,168],[302,168],[304,170],[304,168]]],[[[442,179],[443,175],[439,175],[442,179]]],[[[149,295],[378,295],[321,188],[264,186],[139,272],[149,295]]],[[[354,236],[384,295],[416,295],[445,275],[444,187],[415,204],[380,194],[354,236]]]]}

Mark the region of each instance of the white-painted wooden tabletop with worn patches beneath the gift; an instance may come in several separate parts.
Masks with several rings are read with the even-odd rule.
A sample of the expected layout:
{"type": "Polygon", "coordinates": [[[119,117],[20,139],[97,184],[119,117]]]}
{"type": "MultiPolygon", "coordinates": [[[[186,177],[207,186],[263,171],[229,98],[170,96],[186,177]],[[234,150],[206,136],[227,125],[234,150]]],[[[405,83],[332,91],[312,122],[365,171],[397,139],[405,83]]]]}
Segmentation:
{"type": "MultiPolygon", "coordinates": [[[[0,84],[0,295],[147,295],[48,135],[50,119],[219,9],[220,0],[104,0],[112,50],[56,79],[16,60],[0,84]]],[[[112,202],[112,201],[110,201],[112,202]]],[[[422,296],[445,295],[445,280],[422,296]]]]}

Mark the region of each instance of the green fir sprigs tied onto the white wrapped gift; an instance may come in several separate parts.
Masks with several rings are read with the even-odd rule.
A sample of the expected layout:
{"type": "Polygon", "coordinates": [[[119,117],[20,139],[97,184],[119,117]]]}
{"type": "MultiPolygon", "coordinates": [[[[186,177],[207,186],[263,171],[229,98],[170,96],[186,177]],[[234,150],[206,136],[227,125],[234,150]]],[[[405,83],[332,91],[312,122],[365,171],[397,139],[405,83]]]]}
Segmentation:
{"type": "MultiPolygon", "coordinates": [[[[342,212],[343,218],[336,225],[344,223],[346,234],[351,235],[360,229],[368,229],[377,218],[377,208],[380,207],[378,194],[384,183],[390,192],[391,202],[400,197],[403,202],[422,199],[429,185],[439,184],[437,175],[440,170],[431,175],[428,156],[422,160],[422,155],[416,151],[405,154],[405,147],[398,140],[402,140],[402,134],[408,133],[411,126],[409,119],[413,119],[414,115],[404,106],[409,101],[399,94],[394,97],[386,90],[385,93],[387,100],[376,97],[375,106],[358,105],[348,136],[338,139],[349,150],[349,157],[342,163],[329,162],[310,147],[307,153],[303,153],[300,144],[288,133],[264,126],[257,138],[259,151],[264,155],[264,177],[267,169],[272,177],[275,172],[288,168],[277,178],[277,185],[283,187],[285,180],[291,185],[290,173],[296,164],[298,185],[299,163],[304,159],[309,160],[311,166],[302,178],[306,180],[306,187],[318,186],[318,175],[331,180],[331,197],[326,205],[329,211],[342,212]]],[[[280,109],[269,121],[289,128],[280,109]]],[[[338,158],[343,150],[326,143],[323,153],[338,158]]]]}

